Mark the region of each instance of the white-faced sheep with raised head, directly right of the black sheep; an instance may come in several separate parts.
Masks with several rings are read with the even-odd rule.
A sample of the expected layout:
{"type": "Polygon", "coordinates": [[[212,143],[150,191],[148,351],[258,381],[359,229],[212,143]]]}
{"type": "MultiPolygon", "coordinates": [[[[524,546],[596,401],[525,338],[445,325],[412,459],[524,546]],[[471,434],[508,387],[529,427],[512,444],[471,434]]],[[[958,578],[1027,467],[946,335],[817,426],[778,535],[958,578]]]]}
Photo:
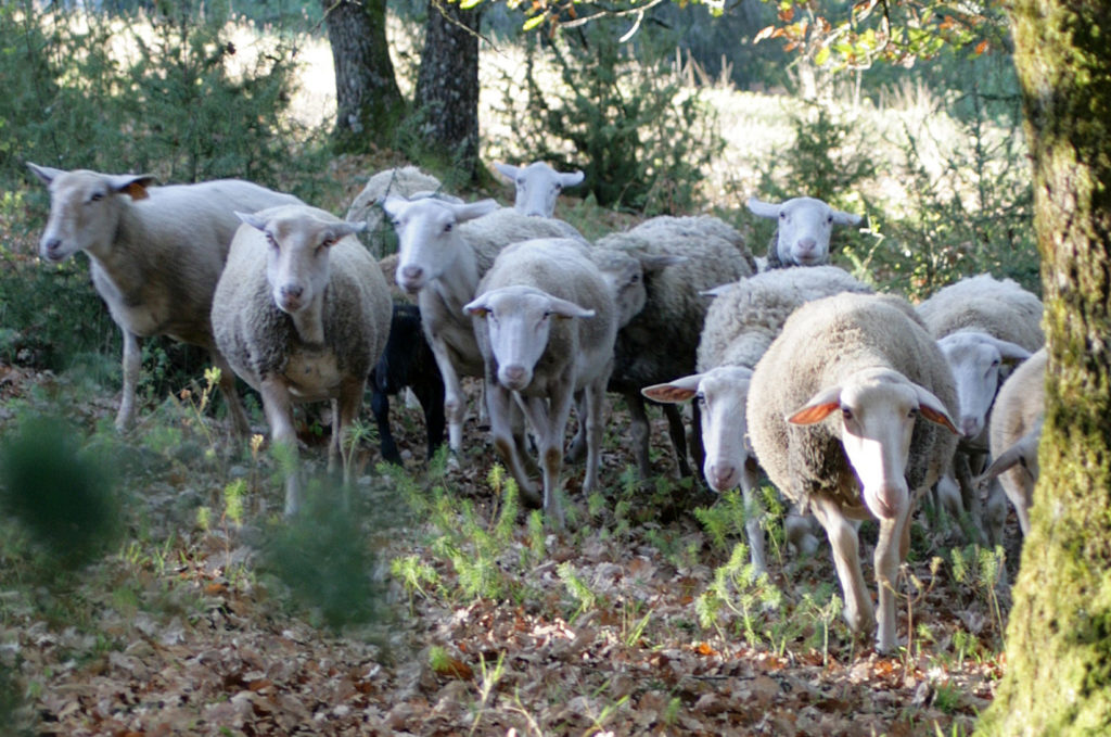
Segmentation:
{"type": "Polygon", "coordinates": [[[499,209],[493,200],[458,205],[436,199],[409,201],[391,195],[382,209],[398,231],[397,283],[418,295],[424,335],[443,377],[448,448],[451,462],[458,464],[467,408],[460,377],[484,372],[463,306],[474,298],[479,279],[506,246],[578,233],[559,220],[499,209]]]}

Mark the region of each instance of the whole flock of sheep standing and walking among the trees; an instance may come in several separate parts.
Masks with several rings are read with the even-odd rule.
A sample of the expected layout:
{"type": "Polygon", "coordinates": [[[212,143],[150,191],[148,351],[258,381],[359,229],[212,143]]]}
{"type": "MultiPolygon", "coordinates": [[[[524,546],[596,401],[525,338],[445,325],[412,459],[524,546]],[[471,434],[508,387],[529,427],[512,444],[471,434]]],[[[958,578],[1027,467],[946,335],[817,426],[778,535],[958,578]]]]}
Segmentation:
{"type": "MultiPolygon", "coordinates": [[[[918,307],[873,293],[829,266],[833,226],[860,218],[820,200],[750,200],[778,222],[754,258],[735,229],[705,216],[657,217],[588,242],[552,217],[581,173],[543,163],[499,165],[516,183],[513,208],[463,202],[416,168],[391,169],[346,220],[243,181],[154,187],[149,176],[29,167],[51,195],[41,258],[83,250],[123,332],[121,430],[134,421],[139,339],[151,336],[209,349],[240,436],[250,428],[234,377],[256,389],[272,444],[293,458],[293,406],[330,400],[330,467],[368,380],[383,458],[400,461],[387,396],[409,386],[430,452],[447,427],[459,462],[461,379],[478,377],[494,448],[526,499],[562,526],[565,459],[585,457],[582,488],[598,487],[607,392],[625,398],[639,471],[652,474],[647,398],[664,410],[681,472],[690,457],[713,489],[741,488],[759,570],[761,469],[794,505],[787,530],[799,549],[817,546],[817,518],[845,617],[857,631],[875,627],[881,651],[897,647],[894,587],[921,495],[969,515],[994,544],[1005,494],[1029,528],[1041,302],[989,275],[918,307]],[[399,247],[377,260],[357,233],[381,231],[383,217],[399,247]],[[879,520],[878,615],[859,556],[864,519],[879,520]]],[[[286,514],[300,506],[293,470],[286,514]]]]}

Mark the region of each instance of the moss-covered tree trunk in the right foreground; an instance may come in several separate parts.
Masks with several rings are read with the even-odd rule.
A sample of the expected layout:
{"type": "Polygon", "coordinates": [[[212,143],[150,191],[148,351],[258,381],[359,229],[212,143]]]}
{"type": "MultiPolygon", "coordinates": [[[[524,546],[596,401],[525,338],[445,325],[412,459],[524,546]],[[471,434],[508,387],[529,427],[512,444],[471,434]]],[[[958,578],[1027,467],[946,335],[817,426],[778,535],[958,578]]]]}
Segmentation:
{"type": "Polygon", "coordinates": [[[1049,346],[1041,479],[982,735],[1111,734],[1111,3],[1010,8],[1049,346]]]}

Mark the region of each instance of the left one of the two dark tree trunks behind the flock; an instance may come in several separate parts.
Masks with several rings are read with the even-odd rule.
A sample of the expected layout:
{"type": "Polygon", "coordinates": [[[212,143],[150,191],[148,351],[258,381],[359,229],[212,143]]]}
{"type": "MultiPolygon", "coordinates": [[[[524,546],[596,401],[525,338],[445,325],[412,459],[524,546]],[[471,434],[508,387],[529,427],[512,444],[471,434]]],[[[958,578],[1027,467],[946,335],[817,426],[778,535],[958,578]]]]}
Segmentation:
{"type": "Polygon", "coordinates": [[[404,118],[386,40],[386,0],[321,0],[336,64],[336,128],[341,151],[369,151],[404,118]]]}

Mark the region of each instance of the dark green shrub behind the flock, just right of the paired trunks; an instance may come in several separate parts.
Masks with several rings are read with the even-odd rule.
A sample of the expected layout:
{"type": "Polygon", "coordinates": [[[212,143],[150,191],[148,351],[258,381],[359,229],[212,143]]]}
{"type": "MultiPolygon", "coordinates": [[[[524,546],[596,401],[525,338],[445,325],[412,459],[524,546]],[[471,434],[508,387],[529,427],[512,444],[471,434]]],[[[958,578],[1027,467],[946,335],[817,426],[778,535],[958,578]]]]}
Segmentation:
{"type": "Polygon", "coordinates": [[[690,211],[702,168],[724,148],[713,112],[682,88],[662,53],[667,43],[647,30],[635,46],[618,36],[615,26],[599,20],[551,41],[530,37],[523,109],[513,103],[516,86],[506,86],[512,153],[581,168],[581,191],[602,207],[690,211]],[[548,62],[562,84],[544,78],[548,62]]]}

